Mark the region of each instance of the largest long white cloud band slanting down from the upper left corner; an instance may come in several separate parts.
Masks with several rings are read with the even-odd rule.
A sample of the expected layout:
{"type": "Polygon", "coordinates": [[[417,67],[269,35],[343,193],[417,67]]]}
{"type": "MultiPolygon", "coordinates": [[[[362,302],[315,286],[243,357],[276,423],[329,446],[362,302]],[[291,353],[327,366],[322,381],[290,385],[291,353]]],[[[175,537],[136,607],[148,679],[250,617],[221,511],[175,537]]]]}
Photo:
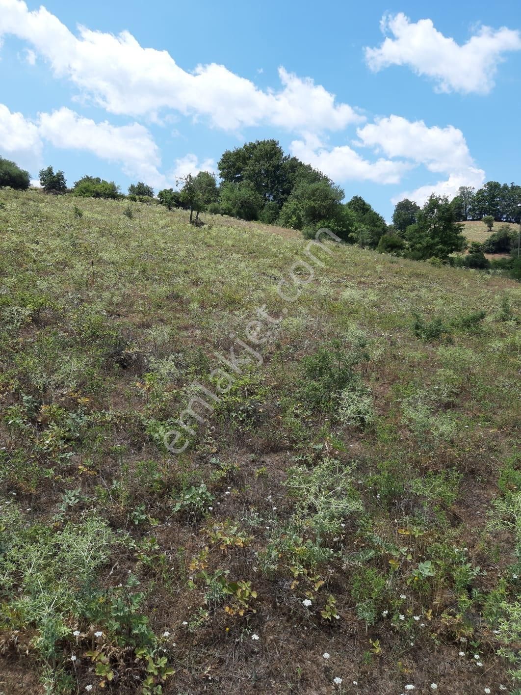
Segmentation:
{"type": "Polygon", "coordinates": [[[224,65],[187,72],[167,51],[143,48],[128,32],[115,36],[80,26],[78,38],[45,8],[30,12],[22,0],[0,0],[0,37],[30,42],[56,76],[68,76],[107,111],[156,116],[161,109],[208,117],[237,130],[271,124],[293,131],[343,129],[363,118],[311,79],[279,70],[281,89],[261,90],[224,65]]]}

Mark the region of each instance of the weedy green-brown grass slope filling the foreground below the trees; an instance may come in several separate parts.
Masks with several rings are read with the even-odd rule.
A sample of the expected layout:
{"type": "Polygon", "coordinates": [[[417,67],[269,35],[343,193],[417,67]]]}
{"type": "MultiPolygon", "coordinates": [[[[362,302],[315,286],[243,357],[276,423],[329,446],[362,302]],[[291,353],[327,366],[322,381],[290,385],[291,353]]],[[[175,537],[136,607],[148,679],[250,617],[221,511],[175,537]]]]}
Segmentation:
{"type": "Polygon", "coordinates": [[[0,203],[0,692],[516,692],[519,284],[0,203]]]}

